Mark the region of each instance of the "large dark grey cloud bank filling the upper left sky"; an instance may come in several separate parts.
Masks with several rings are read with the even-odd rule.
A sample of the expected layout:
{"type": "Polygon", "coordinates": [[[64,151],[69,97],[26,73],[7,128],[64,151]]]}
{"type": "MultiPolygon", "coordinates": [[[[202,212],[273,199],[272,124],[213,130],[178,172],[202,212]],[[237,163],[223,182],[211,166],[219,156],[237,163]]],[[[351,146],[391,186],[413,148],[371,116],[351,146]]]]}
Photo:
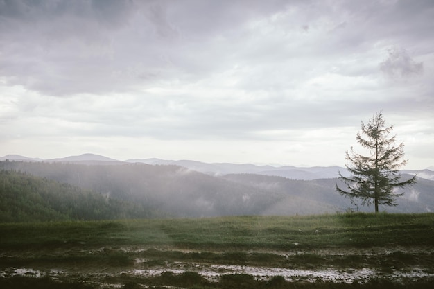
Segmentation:
{"type": "Polygon", "coordinates": [[[0,76],[53,96],[203,78],[225,58],[214,35],[282,5],[270,3],[3,1],[0,76]]]}

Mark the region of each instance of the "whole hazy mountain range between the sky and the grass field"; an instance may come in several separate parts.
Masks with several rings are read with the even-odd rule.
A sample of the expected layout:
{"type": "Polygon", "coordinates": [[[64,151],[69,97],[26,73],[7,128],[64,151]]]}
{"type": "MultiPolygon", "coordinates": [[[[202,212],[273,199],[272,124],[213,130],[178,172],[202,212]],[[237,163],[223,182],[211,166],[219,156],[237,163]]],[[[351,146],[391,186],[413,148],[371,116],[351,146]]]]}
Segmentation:
{"type": "MultiPolygon", "coordinates": [[[[53,206],[54,202],[40,202],[37,207],[42,212],[70,208],[68,218],[76,216],[74,218],[80,220],[85,217],[80,216],[80,211],[76,211],[80,209],[78,203],[86,203],[79,202],[79,199],[84,198],[83,195],[87,195],[87,200],[93,200],[93,213],[85,214],[92,218],[102,216],[98,202],[104,202],[101,208],[105,208],[107,212],[110,208],[105,202],[109,201],[111,206],[122,204],[123,208],[135,208],[134,216],[146,218],[372,211],[372,207],[351,202],[336,192],[336,185],[343,185],[340,179],[336,178],[337,170],[344,171],[344,168],[339,167],[275,168],[252,164],[205,164],[198,161],[161,159],[117,161],[86,154],[51,160],[25,157],[12,159],[11,156],[6,156],[0,158],[0,168],[1,172],[24,174],[15,176],[16,183],[22,183],[28,195],[32,196],[31,200],[22,200],[26,198],[24,193],[20,193],[21,190],[17,190],[17,186],[11,184],[10,175],[4,175],[3,184],[11,184],[10,189],[15,188],[15,193],[11,195],[10,191],[5,191],[10,197],[5,195],[5,201],[1,202],[0,207],[20,208],[20,204],[32,204],[34,200],[58,200],[55,202],[57,207],[44,207],[53,206]],[[29,175],[36,179],[29,180],[29,175]],[[314,177],[316,178],[313,179],[314,177]],[[49,184],[49,187],[54,188],[53,193],[38,187],[38,184],[46,184],[44,179],[58,183],[49,184]],[[63,204],[63,198],[55,193],[58,191],[55,188],[64,186],[73,186],[72,192],[84,190],[89,193],[73,193],[76,197],[70,198],[68,204],[63,204]],[[14,194],[18,194],[21,199],[15,198],[14,194]],[[95,196],[91,198],[92,195],[95,196]],[[16,204],[18,200],[20,203],[16,204]]],[[[403,171],[402,177],[410,178],[414,173],[413,170],[403,171]]],[[[433,174],[431,170],[419,171],[417,183],[403,191],[404,195],[397,200],[398,206],[382,207],[381,210],[400,213],[434,211],[433,174]]],[[[5,188],[8,186],[3,186],[3,190],[5,188]]],[[[65,191],[65,194],[69,193],[65,191]]],[[[35,209],[31,206],[28,208],[30,212],[35,209]]],[[[131,216],[129,211],[132,209],[125,210],[120,210],[113,216],[131,216]]],[[[31,216],[29,212],[20,214],[31,216]]],[[[48,215],[45,213],[44,216],[60,215],[66,216],[62,211],[48,215]]],[[[15,217],[8,216],[4,219],[15,220],[15,217]]]]}

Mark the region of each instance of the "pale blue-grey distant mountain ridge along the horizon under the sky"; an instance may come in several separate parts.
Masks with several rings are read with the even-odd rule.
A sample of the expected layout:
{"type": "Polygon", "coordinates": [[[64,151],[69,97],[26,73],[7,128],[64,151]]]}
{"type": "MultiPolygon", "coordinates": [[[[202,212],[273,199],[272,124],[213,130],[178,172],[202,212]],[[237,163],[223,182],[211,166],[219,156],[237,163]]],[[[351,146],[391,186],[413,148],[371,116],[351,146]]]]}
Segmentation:
{"type": "MultiPolygon", "coordinates": [[[[127,159],[120,161],[118,159],[112,159],[102,155],[95,155],[92,153],[86,153],[83,155],[69,156],[58,159],[40,159],[24,157],[21,155],[6,155],[0,157],[0,161],[4,160],[15,161],[46,161],[46,162],[63,162],[70,164],[89,164],[89,165],[112,165],[112,164],[151,164],[151,165],[175,165],[188,168],[189,170],[195,170],[200,173],[206,173],[207,175],[228,175],[249,173],[257,175],[268,175],[286,177],[288,179],[301,179],[301,180],[313,180],[313,179],[329,179],[338,177],[338,172],[342,175],[348,176],[347,169],[340,166],[313,166],[313,167],[297,167],[297,166],[257,166],[254,164],[230,164],[230,163],[204,163],[201,161],[191,160],[165,160],[165,159],[127,159]]],[[[434,180],[433,170],[402,170],[402,173],[409,175],[415,175],[418,172],[418,176],[424,179],[434,180]]]]}

